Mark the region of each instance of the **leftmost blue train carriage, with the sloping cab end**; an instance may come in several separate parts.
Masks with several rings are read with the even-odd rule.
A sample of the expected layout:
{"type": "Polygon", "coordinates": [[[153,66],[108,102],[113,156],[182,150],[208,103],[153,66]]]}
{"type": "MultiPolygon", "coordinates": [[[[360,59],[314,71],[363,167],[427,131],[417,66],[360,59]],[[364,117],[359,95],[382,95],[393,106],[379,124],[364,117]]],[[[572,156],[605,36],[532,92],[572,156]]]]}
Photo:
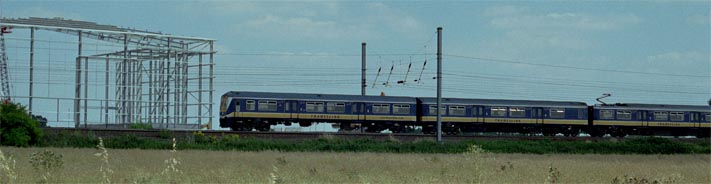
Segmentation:
{"type": "Polygon", "coordinates": [[[368,123],[380,132],[391,124],[415,122],[416,100],[411,97],[360,95],[228,92],[222,96],[220,127],[268,131],[270,125],[314,122],[368,123]]]}

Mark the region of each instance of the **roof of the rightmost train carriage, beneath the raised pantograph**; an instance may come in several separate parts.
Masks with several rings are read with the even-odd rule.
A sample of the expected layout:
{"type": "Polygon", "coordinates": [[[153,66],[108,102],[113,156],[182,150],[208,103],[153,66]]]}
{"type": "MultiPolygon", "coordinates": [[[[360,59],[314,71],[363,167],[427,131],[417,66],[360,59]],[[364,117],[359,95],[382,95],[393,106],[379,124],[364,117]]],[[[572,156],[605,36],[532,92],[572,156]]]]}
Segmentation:
{"type": "Polygon", "coordinates": [[[670,110],[670,111],[699,111],[711,112],[711,107],[705,105],[669,105],[669,104],[636,104],[636,103],[616,103],[616,104],[595,104],[598,109],[628,109],[628,110],[670,110]]]}

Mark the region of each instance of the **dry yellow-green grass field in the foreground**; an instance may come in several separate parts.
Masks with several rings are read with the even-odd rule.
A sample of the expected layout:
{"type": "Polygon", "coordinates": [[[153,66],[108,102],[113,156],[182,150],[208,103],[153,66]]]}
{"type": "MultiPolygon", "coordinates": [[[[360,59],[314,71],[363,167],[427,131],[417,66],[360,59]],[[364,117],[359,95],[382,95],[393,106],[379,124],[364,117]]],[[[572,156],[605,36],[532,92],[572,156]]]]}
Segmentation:
{"type": "MultiPolygon", "coordinates": [[[[0,148],[13,156],[17,179],[35,183],[29,164],[44,148],[0,148]]],[[[61,169],[48,182],[99,183],[96,149],[48,148],[62,154],[61,169]]],[[[114,183],[611,183],[654,180],[711,183],[711,155],[528,155],[282,153],[180,150],[173,158],[181,173],[161,172],[169,150],[108,150],[114,183]]],[[[7,182],[6,170],[3,182],[7,182]]]]}

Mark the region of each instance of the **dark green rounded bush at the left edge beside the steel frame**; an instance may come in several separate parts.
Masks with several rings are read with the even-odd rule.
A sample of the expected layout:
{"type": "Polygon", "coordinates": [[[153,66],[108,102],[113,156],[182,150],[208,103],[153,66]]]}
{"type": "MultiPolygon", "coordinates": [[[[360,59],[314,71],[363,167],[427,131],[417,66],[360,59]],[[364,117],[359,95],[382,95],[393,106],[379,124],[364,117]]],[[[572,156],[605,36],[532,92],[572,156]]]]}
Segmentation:
{"type": "Polygon", "coordinates": [[[9,146],[35,145],[42,138],[39,123],[25,107],[15,103],[0,104],[0,144],[9,146]]]}

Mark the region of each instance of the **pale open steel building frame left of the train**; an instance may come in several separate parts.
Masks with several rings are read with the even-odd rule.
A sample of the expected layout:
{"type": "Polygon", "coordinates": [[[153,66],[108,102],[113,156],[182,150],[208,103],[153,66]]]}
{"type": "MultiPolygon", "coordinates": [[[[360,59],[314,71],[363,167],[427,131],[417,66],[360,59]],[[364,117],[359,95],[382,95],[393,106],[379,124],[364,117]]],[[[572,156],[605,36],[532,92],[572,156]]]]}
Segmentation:
{"type": "MultiPolygon", "coordinates": [[[[76,37],[76,60],[61,63],[76,66],[73,98],[75,127],[125,127],[129,123],[142,122],[152,123],[154,127],[199,128],[209,125],[213,119],[214,39],[174,36],[61,18],[3,18],[0,19],[0,27],[30,30],[31,49],[34,49],[38,31],[76,37]],[[86,50],[82,46],[88,40],[123,48],[87,54],[82,52],[86,50]],[[89,98],[87,95],[92,85],[89,83],[90,65],[94,70],[103,68],[102,71],[105,71],[102,77],[104,84],[101,84],[105,89],[100,98],[89,98]],[[90,102],[100,105],[90,106],[90,102]],[[94,106],[100,106],[102,112],[88,113],[87,109],[94,106]],[[102,116],[98,118],[101,122],[88,120],[99,116],[102,116]]],[[[33,94],[34,53],[31,50],[29,55],[30,85],[26,96],[30,111],[33,98],[39,98],[33,94]]],[[[93,80],[96,83],[96,79],[93,80]]]]}

